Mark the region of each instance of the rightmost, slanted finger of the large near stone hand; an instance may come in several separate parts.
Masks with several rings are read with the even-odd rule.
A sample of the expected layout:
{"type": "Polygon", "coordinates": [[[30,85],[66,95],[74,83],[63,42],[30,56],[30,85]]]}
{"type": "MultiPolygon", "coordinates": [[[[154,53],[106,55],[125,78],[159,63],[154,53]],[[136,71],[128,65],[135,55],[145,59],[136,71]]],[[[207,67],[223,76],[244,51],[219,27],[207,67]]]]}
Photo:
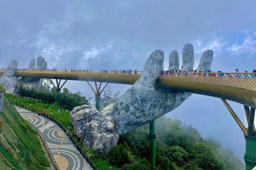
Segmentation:
{"type": "Polygon", "coordinates": [[[196,69],[197,72],[198,71],[205,71],[205,70],[210,70],[211,69],[211,65],[212,65],[212,58],[213,58],[213,51],[208,49],[206,51],[204,51],[201,59],[200,59],[200,62],[199,62],[199,65],[198,65],[198,68],[196,69]]]}

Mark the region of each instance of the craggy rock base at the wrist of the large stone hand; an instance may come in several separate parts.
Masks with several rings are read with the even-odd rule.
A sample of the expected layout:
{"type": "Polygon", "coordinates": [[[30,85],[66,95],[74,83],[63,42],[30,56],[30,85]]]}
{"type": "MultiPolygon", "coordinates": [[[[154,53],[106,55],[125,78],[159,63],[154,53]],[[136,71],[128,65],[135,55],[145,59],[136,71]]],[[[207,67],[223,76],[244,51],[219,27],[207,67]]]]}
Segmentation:
{"type": "Polygon", "coordinates": [[[113,116],[100,117],[100,112],[93,105],[75,107],[70,112],[70,122],[75,134],[83,145],[99,153],[107,152],[114,146],[119,135],[114,131],[113,116]]]}

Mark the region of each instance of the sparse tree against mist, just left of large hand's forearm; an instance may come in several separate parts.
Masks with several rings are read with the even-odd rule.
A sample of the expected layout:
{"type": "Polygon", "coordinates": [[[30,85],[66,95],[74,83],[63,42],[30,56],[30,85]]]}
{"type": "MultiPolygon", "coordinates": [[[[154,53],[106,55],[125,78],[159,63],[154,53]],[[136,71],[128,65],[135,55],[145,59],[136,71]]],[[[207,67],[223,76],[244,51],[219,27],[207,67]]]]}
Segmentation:
{"type": "Polygon", "coordinates": [[[112,93],[110,90],[110,86],[107,87],[106,90],[103,92],[103,96],[101,96],[100,99],[100,110],[102,110],[104,107],[115,103],[119,98],[120,91],[117,91],[114,97],[112,98],[112,93]]]}

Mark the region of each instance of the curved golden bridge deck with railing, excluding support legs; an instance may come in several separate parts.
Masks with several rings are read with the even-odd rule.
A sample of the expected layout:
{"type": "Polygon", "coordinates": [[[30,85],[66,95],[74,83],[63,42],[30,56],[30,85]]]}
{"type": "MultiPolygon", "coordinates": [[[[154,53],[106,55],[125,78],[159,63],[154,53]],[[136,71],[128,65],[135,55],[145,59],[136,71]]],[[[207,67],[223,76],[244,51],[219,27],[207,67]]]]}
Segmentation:
{"type": "MultiPolygon", "coordinates": [[[[5,70],[0,70],[0,76],[4,72],[5,70]]],[[[140,74],[141,71],[120,73],[119,71],[26,70],[15,71],[14,76],[132,85],[138,80],[140,74]]],[[[256,109],[256,79],[254,73],[239,73],[241,76],[236,76],[237,73],[222,74],[222,77],[210,76],[210,74],[207,76],[175,75],[175,72],[170,72],[169,75],[159,74],[155,87],[227,99],[256,109]],[[243,78],[249,74],[251,76],[243,78]]]]}

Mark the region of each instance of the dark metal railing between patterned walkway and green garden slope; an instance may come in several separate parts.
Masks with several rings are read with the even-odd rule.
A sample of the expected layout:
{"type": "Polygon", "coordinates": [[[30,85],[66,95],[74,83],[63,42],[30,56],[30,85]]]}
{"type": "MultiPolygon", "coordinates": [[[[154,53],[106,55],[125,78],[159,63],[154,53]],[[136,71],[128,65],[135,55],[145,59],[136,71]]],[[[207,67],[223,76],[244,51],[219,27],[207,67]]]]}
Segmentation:
{"type": "Polygon", "coordinates": [[[21,107],[23,109],[26,109],[28,111],[37,113],[37,114],[41,114],[41,116],[43,116],[46,119],[49,119],[50,121],[54,122],[56,125],[58,125],[68,136],[69,140],[73,143],[73,145],[76,147],[76,149],[79,151],[79,153],[83,156],[83,158],[87,161],[87,163],[91,166],[91,168],[93,170],[98,170],[98,168],[94,165],[94,163],[92,162],[92,160],[87,156],[87,154],[83,151],[83,149],[78,145],[78,143],[75,141],[75,139],[71,136],[71,134],[68,132],[68,130],[66,128],[64,128],[64,126],[57,121],[56,119],[54,119],[53,117],[44,114],[42,111],[39,111],[37,109],[31,108],[29,106],[26,106],[22,103],[18,103],[16,101],[11,100],[13,105],[16,105],[18,107],[21,107]]]}

